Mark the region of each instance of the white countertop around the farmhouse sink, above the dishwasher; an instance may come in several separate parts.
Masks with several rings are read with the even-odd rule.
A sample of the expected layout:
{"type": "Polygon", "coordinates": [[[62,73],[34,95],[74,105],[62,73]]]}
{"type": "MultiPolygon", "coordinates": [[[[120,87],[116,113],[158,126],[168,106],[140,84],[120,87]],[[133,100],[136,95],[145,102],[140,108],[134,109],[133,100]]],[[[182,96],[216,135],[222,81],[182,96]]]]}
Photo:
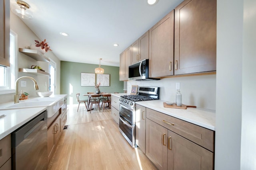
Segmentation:
{"type": "MultiPolygon", "coordinates": [[[[31,99],[28,99],[27,101],[34,100],[34,99],[38,99],[38,100],[42,99],[44,101],[48,99],[49,100],[54,99],[56,102],[58,102],[65,96],[67,95],[59,94],[59,95],[52,95],[50,97],[45,97],[45,98],[40,98],[40,97],[31,98],[31,99]]],[[[14,102],[7,102],[0,105],[0,115],[6,115],[0,118],[0,140],[47,109],[47,106],[42,106],[42,107],[29,107],[29,108],[1,110],[1,108],[10,106],[11,104],[14,104],[14,102]]]]}

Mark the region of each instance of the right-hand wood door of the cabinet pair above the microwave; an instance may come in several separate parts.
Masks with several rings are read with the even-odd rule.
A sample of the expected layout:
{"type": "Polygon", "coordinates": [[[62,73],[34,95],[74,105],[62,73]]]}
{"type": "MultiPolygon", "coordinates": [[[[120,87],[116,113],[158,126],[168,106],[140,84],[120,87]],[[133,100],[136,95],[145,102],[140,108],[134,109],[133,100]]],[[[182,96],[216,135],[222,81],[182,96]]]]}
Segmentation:
{"type": "Polygon", "coordinates": [[[142,61],[144,59],[148,59],[148,49],[149,49],[149,31],[144,33],[139,38],[139,55],[138,61],[142,61]]]}

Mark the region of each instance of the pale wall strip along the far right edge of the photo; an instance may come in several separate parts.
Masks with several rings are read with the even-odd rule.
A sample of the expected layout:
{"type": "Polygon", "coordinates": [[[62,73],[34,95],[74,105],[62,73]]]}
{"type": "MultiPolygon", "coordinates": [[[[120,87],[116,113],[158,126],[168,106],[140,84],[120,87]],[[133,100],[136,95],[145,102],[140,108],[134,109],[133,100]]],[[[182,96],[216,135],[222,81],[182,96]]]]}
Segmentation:
{"type": "Polygon", "coordinates": [[[244,0],[241,170],[256,170],[256,1],[244,0]]]}

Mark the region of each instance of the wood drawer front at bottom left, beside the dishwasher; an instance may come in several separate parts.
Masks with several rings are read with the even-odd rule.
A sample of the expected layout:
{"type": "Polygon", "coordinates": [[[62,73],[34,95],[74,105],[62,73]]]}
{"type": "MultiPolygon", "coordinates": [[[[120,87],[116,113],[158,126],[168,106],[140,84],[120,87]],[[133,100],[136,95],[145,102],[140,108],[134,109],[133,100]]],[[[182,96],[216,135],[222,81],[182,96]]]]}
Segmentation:
{"type": "Polygon", "coordinates": [[[11,157],[11,135],[0,140],[0,167],[11,157]]]}

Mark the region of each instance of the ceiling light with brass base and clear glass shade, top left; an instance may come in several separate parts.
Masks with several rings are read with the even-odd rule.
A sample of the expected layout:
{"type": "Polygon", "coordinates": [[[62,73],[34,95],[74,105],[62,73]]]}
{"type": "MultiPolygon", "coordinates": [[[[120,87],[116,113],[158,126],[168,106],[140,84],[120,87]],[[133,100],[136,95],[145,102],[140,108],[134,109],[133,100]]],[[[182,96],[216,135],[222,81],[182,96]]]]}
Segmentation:
{"type": "Polygon", "coordinates": [[[32,19],[33,15],[29,7],[26,2],[17,0],[17,4],[12,4],[12,12],[20,18],[32,19]]]}

